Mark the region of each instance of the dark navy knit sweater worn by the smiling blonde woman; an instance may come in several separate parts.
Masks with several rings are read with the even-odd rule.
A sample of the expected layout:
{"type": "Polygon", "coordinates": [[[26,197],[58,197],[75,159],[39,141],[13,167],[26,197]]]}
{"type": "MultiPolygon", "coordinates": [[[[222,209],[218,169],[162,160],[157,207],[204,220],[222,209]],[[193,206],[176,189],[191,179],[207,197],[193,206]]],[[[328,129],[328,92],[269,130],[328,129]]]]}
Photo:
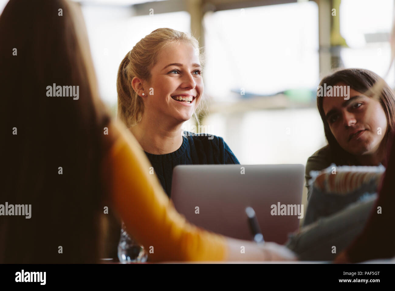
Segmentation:
{"type": "Polygon", "coordinates": [[[222,137],[184,131],[182,145],[169,154],[145,152],[167,196],[176,165],[240,164],[222,137]],[[209,139],[210,138],[210,139],[209,139]]]}

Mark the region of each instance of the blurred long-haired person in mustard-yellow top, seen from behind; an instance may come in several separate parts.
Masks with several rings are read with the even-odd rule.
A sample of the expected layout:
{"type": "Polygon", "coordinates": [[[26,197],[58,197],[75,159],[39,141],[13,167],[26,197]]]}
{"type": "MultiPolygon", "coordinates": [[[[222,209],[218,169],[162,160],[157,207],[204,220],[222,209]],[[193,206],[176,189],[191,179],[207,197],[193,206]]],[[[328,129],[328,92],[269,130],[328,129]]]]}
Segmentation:
{"type": "Polygon", "coordinates": [[[133,135],[98,99],[77,4],[11,0],[0,41],[1,263],[98,262],[107,207],[152,250],[151,261],[295,258],[274,243],[201,230],[177,213],[133,135]]]}

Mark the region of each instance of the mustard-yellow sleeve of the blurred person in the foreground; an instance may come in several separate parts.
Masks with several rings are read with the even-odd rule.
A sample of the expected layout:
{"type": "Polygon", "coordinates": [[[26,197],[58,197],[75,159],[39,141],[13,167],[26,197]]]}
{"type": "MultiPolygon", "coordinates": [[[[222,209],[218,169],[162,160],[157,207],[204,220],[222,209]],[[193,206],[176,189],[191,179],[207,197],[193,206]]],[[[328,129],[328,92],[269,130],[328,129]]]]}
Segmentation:
{"type": "Polygon", "coordinates": [[[103,164],[110,199],[150,261],[225,260],[225,237],[189,224],[149,173],[151,165],[132,133],[119,124],[109,130],[116,137],[103,164]]]}

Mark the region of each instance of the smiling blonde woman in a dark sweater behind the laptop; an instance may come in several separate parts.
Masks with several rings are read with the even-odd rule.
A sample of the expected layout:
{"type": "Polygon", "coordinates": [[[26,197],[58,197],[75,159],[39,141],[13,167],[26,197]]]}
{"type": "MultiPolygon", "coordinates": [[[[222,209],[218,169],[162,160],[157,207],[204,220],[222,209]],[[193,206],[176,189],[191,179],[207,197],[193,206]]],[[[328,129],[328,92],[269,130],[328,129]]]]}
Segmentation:
{"type": "Polygon", "coordinates": [[[182,132],[203,98],[202,63],[196,38],[160,28],[137,42],[119,66],[118,117],[168,196],[176,165],[239,164],[222,137],[182,132]]]}

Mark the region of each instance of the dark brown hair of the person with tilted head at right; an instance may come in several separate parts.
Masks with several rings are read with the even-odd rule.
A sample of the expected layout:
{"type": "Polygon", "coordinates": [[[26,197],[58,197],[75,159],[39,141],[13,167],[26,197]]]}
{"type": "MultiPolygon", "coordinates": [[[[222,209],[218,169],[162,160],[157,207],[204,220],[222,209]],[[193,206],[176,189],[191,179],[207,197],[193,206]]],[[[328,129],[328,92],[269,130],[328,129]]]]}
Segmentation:
{"type": "MultiPolygon", "coordinates": [[[[391,88],[382,78],[380,78],[380,76],[370,70],[361,68],[337,70],[324,77],[320,82],[320,86],[324,87],[324,84],[326,84],[326,86],[335,86],[339,82],[344,82],[352,89],[364,93],[369,97],[373,97],[374,95],[372,92],[372,87],[378,83],[382,85],[380,86],[380,92],[377,95],[387,118],[387,131],[382,141],[386,145],[389,134],[395,129],[395,97],[391,88]]],[[[317,94],[317,107],[318,111],[320,112],[322,122],[324,123],[325,137],[328,141],[328,146],[333,156],[333,162],[337,165],[357,165],[357,161],[353,158],[353,156],[346,152],[333,136],[331,129],[329,128],[329,124],[325,118],[323,100],[324,97],[318,96],[317,94]]]]}

